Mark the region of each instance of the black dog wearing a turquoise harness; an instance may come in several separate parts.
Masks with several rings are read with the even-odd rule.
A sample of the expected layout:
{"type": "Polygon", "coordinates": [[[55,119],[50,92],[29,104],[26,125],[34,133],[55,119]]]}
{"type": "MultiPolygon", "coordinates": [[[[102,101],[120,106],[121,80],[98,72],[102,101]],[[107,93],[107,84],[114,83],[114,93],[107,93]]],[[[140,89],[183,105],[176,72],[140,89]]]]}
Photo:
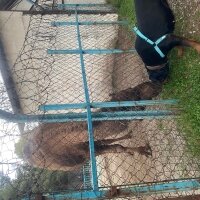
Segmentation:
{"type": "Polygon", "coordinates": [[[134,0],[137,27],[135,49],[147,69],[149,79],[164,83],[169,76],[168,53],[192,47],[200,53],[200,43],[173,34],[175,17],[167,0],[134,0]]]}

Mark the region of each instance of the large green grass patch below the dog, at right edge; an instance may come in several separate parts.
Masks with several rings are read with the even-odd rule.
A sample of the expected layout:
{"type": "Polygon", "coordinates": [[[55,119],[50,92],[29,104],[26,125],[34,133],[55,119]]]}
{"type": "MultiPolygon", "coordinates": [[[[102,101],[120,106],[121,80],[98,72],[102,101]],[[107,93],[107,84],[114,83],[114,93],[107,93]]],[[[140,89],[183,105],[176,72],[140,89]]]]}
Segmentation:
{"type": "Polygon", "coordinates": [[[192,153],[200,156],[200,59],[192,49],[177,59],[176,50],[170,55],[170,81],[164,87],[163,98],[180,99],[182,108],[179,129],[186,136],[192,153]]]}

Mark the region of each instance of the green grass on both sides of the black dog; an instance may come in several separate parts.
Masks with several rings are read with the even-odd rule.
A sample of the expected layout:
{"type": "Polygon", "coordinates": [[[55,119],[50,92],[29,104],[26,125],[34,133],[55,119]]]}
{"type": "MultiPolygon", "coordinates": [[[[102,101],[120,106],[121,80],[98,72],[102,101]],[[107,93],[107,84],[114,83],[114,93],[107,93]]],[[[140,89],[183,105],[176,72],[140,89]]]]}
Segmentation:
{"type": "MultiPolygon", "coordinates": [[[[132,0],[108,0],[115,5],[121,19],[127,19],[131,27],[136,23],[132,0]]],[[[179,17],[180,10],[175,10],[175,16],[179,17]]],[[[200,21],[200,14],[195,15],[196,21],[200,21]]],[[[193,20],[193,19],[190,19],[193,20]]],[[[183,32],[189,35],[189,19],[181,18],[176,22],[176,34],[183,32]]],[[[192,35],[199,39],[198,33],[192,35]]],[[[193,49],[186,49],[183,57],[178,58],[176,50],[170,53],[171,74],[169,82],[164,86],[162,97],[165,99],[180,99],[182,110],[178,125],[180,131],[186,136],[187,143],[196,156],[200,156],[200,55],[193,49]]]]}

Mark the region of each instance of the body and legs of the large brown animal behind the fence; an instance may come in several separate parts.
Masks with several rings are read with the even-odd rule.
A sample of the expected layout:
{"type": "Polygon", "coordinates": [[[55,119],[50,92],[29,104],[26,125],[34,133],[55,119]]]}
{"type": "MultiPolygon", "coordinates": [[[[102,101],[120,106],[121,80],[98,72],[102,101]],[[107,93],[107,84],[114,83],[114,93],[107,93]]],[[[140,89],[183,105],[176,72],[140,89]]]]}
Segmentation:
{"type": "MultiPolygon", "coordinates": [[[[100,139],[100,136],[105,138],[111,134],[105,132],[107,124],[107,122],[101,122],[95,126],[94,135],[99,138],[94,141],[96,156],[106,153],[134,155],[135,152],[146,157],[152,156],[148,143],[138,147],[113,144],[131,139],[131,132],[118,138],[100,139]]],[[[115,122],[111,122],[110,125],[111,129],[113,126],[118,126],[115,122]]],[[[23,155],[24,160],[34,167],[53,171],[76,171],[90,159],[86,122],[40,124],[29,134],[30,137],[23,148],[23,155]]]]}

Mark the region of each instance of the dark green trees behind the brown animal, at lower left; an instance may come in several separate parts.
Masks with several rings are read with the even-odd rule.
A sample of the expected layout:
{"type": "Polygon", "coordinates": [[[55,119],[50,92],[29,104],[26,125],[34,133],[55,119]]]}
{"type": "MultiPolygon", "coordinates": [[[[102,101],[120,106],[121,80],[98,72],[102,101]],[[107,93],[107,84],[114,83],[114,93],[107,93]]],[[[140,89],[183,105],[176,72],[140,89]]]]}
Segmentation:
{"type": "MultiPolygon", "coordinates": [[[[26,137],[21,136],[15,144],[15,153],[19,158],[23,158],[25,143],[26,137]]],[[[16,193],[21,196],[80,189],[82,182],[82,172],[50,171],[24,164],[18,166],[17,178],[12,181],[12,185],[16,193]]]]}

